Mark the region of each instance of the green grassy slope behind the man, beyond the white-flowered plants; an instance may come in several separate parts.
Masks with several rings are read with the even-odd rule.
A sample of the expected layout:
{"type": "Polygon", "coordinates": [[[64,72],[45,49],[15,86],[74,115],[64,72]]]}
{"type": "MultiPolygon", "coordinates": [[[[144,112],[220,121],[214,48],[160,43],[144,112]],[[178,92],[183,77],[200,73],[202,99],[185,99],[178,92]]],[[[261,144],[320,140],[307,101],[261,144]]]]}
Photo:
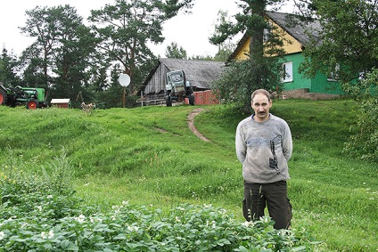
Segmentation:
{"type": "MultiPolygon", "coordinates": [[[[378,251],[377,167],[342,153],[356,125],[353,101],[274,102],[292,129],[289,197],[295,228],[325,251],[378,251]]],[[[249,115],[224,106],[132,110],[25,110],[0,107],[2,164],[38,171],[67,153],[87,204],[103,209],[128,200],[162,209],[188,202],[224,207],[242,219],[242,167],[234,153],[237,123],[249,115]],[[204,109],[195,126],[187,115],[204,109]]]]}

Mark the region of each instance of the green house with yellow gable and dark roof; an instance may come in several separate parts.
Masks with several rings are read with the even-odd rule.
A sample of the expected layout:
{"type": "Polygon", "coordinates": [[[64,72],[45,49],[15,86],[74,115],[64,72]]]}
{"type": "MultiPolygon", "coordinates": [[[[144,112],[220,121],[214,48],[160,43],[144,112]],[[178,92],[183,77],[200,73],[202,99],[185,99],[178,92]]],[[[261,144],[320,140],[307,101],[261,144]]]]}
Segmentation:
{"type": "MultiPolygon", "coordinates": [[[[343,93],[341,85],[332,77],[318,73],[314,78],[307,78],[298,71],[300,63],[304,61],[302,52],[306,50],[309,42],[308,32],[316,33],[321,28],[319,22],[308,24],[297,20],[293,24],[289,20],[295,16],[282,12],[266,12],[266,18],[270,25],[275,26],[275,32],[284,38],[284,94],[290,97],[326,99],[343,93]]],[[[228,60],[245,60],[248,57],[246,54],[249,53],[250,41],[251,37],[244,35],[228,60]]]]}

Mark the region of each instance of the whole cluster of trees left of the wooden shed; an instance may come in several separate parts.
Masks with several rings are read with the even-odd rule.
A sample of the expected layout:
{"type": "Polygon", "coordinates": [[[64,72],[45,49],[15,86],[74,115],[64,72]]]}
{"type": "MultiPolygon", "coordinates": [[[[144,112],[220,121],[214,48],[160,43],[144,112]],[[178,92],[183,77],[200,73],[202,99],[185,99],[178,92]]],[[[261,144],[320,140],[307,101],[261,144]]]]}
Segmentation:
{"type": "MultiPolygon", "coordinates": [[[[19,60],[4,51],[0,81],[45,88],[46,99],[74,101],[81,92],[82,102],[122,107],[117,97],[119,88],[113,85],[113,76],[109,77],[108,72],[115,69],[129,74],[132,83],[127,94],[139,93],[134,84],[142,84],[155,66],[156,58],[147,45],[162,42],[161,24],[179,12],[188,12],[192,2],[119,0],[93,10],[91,27],[86,27],[68,4],[37,6],[26,12],[27,21],[21,27],[26,36],[36,38],[35,42],[19,60]]],[[[135,106],[135,97],[127,100],[135,106]]]]}

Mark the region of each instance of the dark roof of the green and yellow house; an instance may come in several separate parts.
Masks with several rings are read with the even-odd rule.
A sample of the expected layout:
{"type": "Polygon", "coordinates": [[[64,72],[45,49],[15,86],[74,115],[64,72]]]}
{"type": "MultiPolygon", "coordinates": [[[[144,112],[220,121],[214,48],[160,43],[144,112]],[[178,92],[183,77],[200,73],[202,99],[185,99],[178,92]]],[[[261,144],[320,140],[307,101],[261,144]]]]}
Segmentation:
{"type": "MultiPolygon", "coordinates": [[[[300,16],[290,13],[282,12],[266,12],[267,18],[274,21],[280,28],[283,28],[289,35],[294,37],[300,45],[306,46],[310,42],[310,37],[316,37],[318,31],[321,29],[318,20],[304,21],[300,16]]],[[[249,37],[244,34],[242,39],[236,46],[234,52],[228,57],[230,61],[236,57],[237,53],[242,50],[242,47],[247,43],[249,37]]]]}

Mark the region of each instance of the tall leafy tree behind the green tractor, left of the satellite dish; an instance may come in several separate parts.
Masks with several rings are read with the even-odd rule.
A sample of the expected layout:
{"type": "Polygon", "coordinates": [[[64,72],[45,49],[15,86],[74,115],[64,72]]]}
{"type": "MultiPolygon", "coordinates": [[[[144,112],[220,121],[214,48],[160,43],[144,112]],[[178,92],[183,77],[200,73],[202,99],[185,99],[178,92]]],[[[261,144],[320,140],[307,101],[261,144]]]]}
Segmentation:
{"type": "Polygon", "coordinates": [[[94,52],[89,29],[70,5],[37,6],[27,14],[21,32],[36,41],[21,55],[24,79],[52,89],[53,97],[75,97],[86,84],[87,57],[94,52]]]}

